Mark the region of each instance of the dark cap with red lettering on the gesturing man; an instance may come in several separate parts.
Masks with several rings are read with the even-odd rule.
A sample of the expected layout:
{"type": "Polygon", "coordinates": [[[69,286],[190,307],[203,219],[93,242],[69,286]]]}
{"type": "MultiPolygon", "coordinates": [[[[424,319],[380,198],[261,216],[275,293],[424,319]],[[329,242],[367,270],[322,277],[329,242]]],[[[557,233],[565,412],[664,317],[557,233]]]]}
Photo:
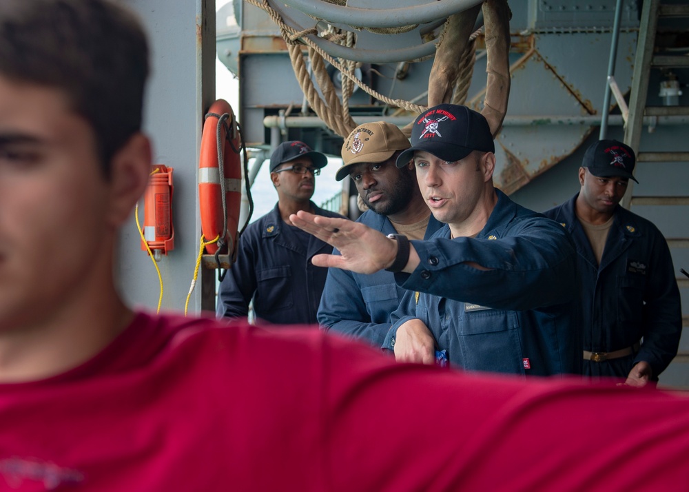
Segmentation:
{"type": "Polygon", "coordinates": [[[411,148],[397,158],[397,167],[409,163],[415,150],[424,150],[443,161],[460,161],[473,150],[495,152],[493,134],[481,113],[457,104],[430,107],[411,129],[411,148]]]}

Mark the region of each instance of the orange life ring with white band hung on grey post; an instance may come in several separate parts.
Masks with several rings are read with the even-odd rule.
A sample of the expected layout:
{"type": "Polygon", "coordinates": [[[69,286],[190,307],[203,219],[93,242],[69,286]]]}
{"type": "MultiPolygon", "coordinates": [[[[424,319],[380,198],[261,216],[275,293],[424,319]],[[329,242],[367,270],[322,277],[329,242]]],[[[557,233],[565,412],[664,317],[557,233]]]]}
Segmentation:
{"type": "Polygon", "coordinates": [[[234,256],[237,243],[239,209],[242,200],[242,165],[240,136],[232,107],[223,99],[215,101],[203,123],[198,160],[198,206],[201,232],[205,240],[220,236],[217,243],[206,246],[206,252],[234,256]],[[219,144],[219,145],[218,145],[219,144]],[[218,166],[218,156],[220,166],[218,166]],[[222,170],[222,171],[220,171],[222,170]],[[220,173],[223,181],[220,181],[220,173]],[[225,211],[223,192],[225,188],[225,211]],[[223,225],[225,230],[223,231],[223,225]]]}

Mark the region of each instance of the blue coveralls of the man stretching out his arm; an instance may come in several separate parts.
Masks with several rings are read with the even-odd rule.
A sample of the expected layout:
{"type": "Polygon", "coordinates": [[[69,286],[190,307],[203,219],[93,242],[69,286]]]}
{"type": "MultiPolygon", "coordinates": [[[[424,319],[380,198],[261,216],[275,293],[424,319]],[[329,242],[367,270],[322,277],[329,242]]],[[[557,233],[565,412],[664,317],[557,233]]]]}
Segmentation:
{"type": "Polygon", "coordinates": [[[451,365],[529,376],[579,374],[574,244],[557,223],[496,192],[497,204],[475,238],[451,239],[445,226],[429,241],[411,242],[421,263],[412,274],[395,274],[409,293],[393,313],[383,347],[393,349],[398,327],[419,318],[451,365]]]}

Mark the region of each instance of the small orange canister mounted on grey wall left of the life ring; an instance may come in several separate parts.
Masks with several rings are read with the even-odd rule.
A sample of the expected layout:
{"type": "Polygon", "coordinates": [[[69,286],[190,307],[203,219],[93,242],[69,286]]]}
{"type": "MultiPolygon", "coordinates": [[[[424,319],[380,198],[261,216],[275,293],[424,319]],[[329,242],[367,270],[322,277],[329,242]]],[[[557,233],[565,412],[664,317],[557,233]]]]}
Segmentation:
{"type": "MultiPolygon", "coordinates": [[[[174,249],[172,171],[172,167],[163,164],[153,165],[144,196],[143,237],[156,261],[174,249]]],[[[146,251],[146,243],[141,241],[143,251],[146,251]]]]}

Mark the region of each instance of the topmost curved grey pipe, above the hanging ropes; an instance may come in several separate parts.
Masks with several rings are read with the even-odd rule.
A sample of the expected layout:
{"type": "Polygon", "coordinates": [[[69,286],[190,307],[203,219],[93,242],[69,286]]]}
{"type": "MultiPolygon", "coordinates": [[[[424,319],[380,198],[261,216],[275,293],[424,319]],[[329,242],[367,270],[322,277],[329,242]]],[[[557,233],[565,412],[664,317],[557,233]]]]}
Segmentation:
{"type": "MultiPolygon", "coordinates": [[[[444,19],[477,6],[482,1],[429,0],[417,6],[386,9],[341,7],[333,3],[313,0],[280,0],[280,3],[316,19],[325,19],[329,23],[356,25],[362,28],[400,28],[404,25],[444,19]]],[[[271,3],[274,2],[271,1],[271,3]]],[[[271,6],[275,8],[274,5],[271,6]]]]}

